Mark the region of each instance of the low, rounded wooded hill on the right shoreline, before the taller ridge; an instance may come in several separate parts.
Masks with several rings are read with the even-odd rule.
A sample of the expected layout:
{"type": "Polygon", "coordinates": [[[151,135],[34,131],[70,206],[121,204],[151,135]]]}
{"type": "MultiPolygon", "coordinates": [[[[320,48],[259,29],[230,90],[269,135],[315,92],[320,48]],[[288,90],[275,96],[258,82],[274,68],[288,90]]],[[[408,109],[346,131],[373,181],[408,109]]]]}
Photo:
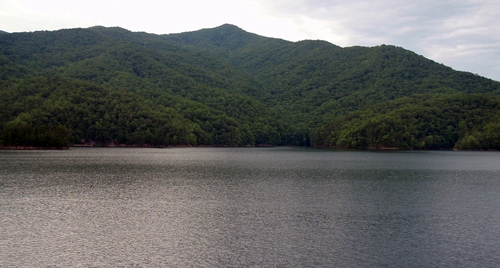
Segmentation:
{"type": "MultiPolygon", "coordinates": [[[[313,132],[313,144],[348,148],[478,149],[479,142],[467,147],[460,145],[466,140],[459,139],[467,136],[472,142],[470,132],[483,133],[483,129],[493,132],[492,115],[500,115],[499,97],[414,95],[340,116],[313,132]]],[[[498,138],[488,137],[491,137],[488,141],[498,138]]]]}

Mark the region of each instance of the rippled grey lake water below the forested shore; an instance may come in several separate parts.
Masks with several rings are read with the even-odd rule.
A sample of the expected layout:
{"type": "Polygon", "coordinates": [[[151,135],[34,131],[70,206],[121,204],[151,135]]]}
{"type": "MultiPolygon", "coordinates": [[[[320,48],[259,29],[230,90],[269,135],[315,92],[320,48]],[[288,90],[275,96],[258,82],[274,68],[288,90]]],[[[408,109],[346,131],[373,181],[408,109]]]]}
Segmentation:
{"type": "Polygon", "coordinates": [[[0,267],[499,267],[500,153],[0,151],[0,267]]]}

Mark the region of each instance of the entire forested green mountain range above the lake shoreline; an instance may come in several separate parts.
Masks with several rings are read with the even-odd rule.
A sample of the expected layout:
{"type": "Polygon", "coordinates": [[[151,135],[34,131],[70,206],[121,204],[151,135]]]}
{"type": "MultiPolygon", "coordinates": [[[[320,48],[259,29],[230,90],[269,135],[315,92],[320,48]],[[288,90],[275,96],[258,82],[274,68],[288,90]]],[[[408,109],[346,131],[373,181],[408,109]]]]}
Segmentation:
{"type": "Polygon", "coordinates": [[[0,34],[0,145],[500,149],[500,82],[222,25],[0,34]]]}

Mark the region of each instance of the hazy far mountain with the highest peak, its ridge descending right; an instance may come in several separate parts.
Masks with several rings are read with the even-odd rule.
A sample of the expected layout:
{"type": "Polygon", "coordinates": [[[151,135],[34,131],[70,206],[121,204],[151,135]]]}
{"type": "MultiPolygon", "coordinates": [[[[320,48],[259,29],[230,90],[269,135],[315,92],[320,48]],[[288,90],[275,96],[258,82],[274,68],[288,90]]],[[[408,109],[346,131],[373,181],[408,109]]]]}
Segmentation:
{"type": "Polygon", "coordinates": [[[454,71],[399,47],[340,48],[312,40],[292,43],[252,34],[242,37],[245,32],[229,25],[220,28],[166,39],[184,40],[209,53],[226,55],[236,68],[263,81],[270,95],[263,95],[261,101],[279,103],[297,114],[313,113],[318,119],[412,94],[500,93],[498,82],[454,71]],[[220,31],[229,41],[218,42],[215,48],[204,45],[213,44],[220,31]],[[187,35],[190,38],[184,38],[187,35]],[[234,38],[252,41],[235,46],[234,38]]]}

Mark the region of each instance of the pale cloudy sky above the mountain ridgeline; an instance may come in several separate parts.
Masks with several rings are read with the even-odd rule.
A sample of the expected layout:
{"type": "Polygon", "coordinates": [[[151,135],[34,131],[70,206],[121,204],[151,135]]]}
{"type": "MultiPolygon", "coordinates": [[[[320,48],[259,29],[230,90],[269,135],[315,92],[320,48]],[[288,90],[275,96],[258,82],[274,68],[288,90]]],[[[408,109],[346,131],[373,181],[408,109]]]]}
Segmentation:
{"type": "Polygon", "coordinates": [[[224,23],[290,41],[391,44],[500,81],[499,0],[0,0],[0,30],[95,25],[156,34],[224,23]]]}

